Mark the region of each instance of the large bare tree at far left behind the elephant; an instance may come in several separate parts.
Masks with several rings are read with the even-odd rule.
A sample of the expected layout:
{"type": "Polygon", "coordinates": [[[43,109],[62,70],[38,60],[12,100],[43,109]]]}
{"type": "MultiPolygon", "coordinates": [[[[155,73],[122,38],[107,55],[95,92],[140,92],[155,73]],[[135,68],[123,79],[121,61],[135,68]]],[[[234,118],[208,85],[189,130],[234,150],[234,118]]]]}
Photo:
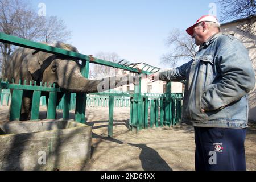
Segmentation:
{"type": "MultiPolygon", "coordinates": [[[[38,42],[65,41],[71,36],[63,20],[56,16],[40,17],[26,0],[0,0],[0,31],[38,42]]],[[[0,43],[2,75],[13,49],[10,44],[0,43]]]]}

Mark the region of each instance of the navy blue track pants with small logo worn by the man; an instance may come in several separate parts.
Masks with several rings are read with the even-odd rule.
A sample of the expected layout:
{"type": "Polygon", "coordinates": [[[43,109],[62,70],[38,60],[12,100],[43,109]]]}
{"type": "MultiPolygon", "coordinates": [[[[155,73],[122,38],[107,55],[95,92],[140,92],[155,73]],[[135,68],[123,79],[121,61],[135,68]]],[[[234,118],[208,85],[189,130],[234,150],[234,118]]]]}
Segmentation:
{"type": "Polygon", "coordinates": [[[246,170],[246,129],[194,128],[196,171],[246,170]]]}

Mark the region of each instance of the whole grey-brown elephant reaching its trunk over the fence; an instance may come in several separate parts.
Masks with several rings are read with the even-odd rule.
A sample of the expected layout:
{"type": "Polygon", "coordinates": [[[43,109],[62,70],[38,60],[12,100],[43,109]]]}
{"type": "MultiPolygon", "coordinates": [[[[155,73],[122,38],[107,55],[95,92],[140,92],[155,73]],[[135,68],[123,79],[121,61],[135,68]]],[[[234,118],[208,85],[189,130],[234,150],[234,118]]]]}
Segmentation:
{"type": "MultiPolygon", "coordinates": [[[[68,51],[77,52],[75,46],[63,42],[46,43],[49,46],[62,48],[68,51]]],[[[70,59],[52,53],[35,51],[34,49],[19,47],[10,55],[5,65],[5,78],[9,82],[14,80],[15,84],[19,80],[26,84],[44,85],[55,84],[56,87],[75,93],[95,93],[103,90],[115,88],[125,84],[138,84],[136,76],[112,76],[98,80],[87,79],[81,74],[81,65],[78,60],[70,59]],[[114,80],[114,81],[113,81],[114,80]]],[[[13,90],[11,90],[12,93],[13,90]]],[[[57,93],[57,105],[63,97],[63,92],[57,93]]],[[[49,93],[42,92],[48,101],[49,93]]],[[[22,108],[20,111],[20,121],[30,119],[32,106],[32,91],[23,90],[22,108]]]]}

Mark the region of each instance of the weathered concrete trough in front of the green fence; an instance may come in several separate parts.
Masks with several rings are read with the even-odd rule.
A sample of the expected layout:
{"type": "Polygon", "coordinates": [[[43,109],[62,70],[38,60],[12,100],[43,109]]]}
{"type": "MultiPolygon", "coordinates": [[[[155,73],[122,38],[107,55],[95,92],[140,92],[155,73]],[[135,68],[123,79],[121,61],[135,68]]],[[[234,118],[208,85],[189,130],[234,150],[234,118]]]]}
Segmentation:
{"type": "Polygon", "coordinates": [[[81,170],[90,160],[92,127],[73,120],[0,125],[0,170],[81,170]]]}

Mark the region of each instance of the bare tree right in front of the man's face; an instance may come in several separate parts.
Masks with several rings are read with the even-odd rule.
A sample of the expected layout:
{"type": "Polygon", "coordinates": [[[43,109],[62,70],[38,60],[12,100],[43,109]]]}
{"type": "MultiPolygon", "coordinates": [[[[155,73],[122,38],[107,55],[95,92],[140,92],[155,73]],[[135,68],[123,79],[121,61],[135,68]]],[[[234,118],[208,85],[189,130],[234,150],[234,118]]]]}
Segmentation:
{"type": "Polygon", "coordinates": [[[162,63],[175,67],[181,59],[191,60],[197,52],[197,46],[191,36],[179,29],[172,30],[167,38],[166,44],[172,50],[162,56],[162,63]]]}

